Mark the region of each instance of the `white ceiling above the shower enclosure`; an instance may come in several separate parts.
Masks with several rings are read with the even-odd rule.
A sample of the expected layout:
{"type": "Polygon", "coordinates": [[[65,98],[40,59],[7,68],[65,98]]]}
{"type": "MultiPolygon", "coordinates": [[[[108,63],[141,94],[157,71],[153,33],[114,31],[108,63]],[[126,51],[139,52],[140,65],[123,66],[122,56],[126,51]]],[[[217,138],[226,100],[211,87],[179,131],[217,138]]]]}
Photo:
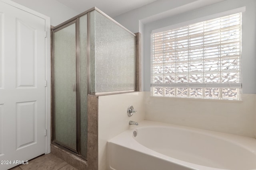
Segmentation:
{"type": "Polygon", "coordinates": [[[94,6],[114,18],[120,14],[140,8],[156,0],[56,0],[78,13],[94,6]]]}

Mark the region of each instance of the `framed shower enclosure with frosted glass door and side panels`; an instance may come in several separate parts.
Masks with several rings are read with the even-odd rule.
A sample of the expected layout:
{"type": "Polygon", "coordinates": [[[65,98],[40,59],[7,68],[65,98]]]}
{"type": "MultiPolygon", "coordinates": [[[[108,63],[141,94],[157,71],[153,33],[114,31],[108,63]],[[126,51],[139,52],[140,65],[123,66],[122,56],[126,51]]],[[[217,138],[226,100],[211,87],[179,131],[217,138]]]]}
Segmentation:
{"type": "Polygon", "coordinates": [[[52,142],[86,159],[87,96],[138,91],[136,60],[136,35],[95,7],[53,27],[52,142]]]}

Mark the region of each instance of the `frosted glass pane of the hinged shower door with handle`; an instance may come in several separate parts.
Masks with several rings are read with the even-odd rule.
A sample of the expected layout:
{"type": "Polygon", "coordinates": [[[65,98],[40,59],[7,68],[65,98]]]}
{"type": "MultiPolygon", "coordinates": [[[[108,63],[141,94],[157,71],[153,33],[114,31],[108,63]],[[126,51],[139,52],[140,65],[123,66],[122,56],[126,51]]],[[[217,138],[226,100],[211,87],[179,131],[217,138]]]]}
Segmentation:
{"type": "Polygon", "coordinates": [[[55,140],[76,150],[76,25],[54,33],[55,140]]]}

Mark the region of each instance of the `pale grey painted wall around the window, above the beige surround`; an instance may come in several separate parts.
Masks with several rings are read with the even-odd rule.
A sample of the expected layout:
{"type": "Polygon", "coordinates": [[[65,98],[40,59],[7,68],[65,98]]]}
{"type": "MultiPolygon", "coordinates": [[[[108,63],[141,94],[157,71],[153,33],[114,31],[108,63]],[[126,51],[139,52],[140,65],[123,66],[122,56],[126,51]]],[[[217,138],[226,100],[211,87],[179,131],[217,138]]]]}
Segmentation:
{"type": "Polygon", "coordinates": [[[193,0],[189,2],[186,0],[175,2],[157,0],[114,18],[132,32],[140,31],[142,37],[144,37],[142,49],[144,53],[142,56],[142,60],[144,61],[142,83],[144,84],[145,91],[150,91],[150,33],[152,30],[245,6],[246,12],[242,16],[243,93],[256,93],[256,76],[252,76],[252,72],[256,73],[256,1],[225,0],[207,6],[210,2],[216,3],[218,0],[193,0]],[[205,7],[202,8],[202,6],[205,7]],[[144,26],[144,29],[141,28],[142,26],[144,26]]]}

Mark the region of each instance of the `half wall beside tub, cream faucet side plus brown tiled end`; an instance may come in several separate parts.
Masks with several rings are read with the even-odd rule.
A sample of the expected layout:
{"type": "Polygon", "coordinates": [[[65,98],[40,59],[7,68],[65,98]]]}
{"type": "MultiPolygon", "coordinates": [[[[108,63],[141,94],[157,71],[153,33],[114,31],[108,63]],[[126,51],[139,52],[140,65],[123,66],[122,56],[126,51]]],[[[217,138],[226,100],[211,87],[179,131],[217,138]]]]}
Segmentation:
{"type": "Polygon", "coordinates": [[[88,95],[88,170],[107,170],[107,141],[144,120],[144,106],[144,92],[88,95]],[[130,105],[137,113],[128,117],[130,105]]]}

